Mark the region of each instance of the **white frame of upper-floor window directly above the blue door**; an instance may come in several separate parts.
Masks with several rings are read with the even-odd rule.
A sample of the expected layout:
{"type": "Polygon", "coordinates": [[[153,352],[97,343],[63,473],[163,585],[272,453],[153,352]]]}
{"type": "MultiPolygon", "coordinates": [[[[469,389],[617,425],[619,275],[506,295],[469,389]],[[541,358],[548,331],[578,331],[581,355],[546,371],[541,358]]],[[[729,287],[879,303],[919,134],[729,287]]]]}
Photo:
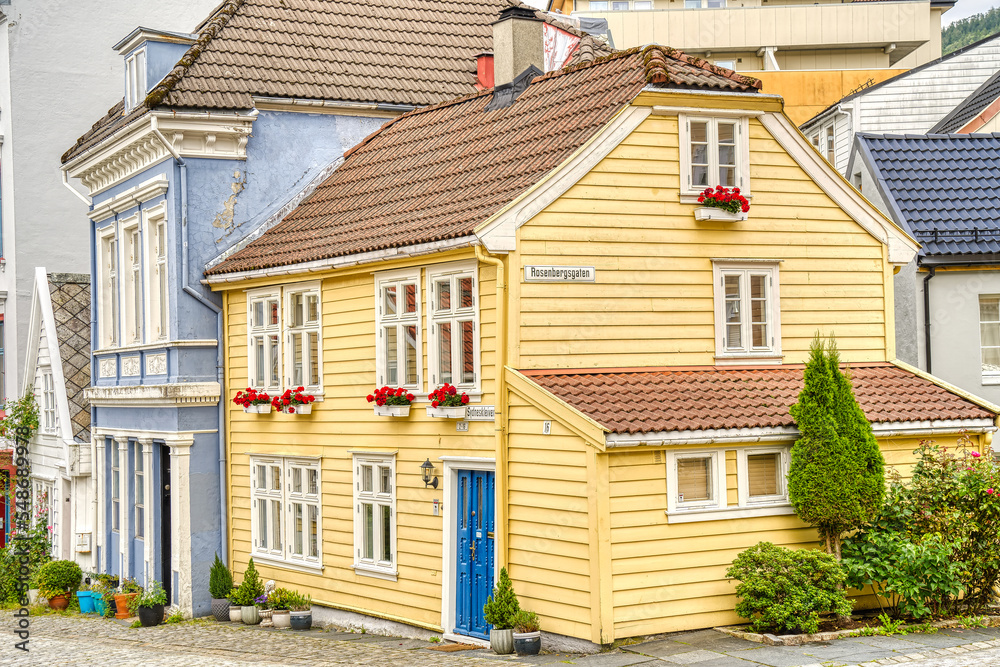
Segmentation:
{"type": "Polygon", "coordinates": [[[438,372],[438,335],[441,323],[450,323],[452,326],[452,382],[459,390],[469,394],[469,398],[479,397],[482,394],[483,374],[480,363],[481,355],[481,329],[479,319],[480,295],[479,295],[479,266],[476,261],[450,262],[448,264],[438,264],[427,267],[427,368],[430,376],[430,383],[434,388],[440,387],[444,381],[438,372]],[[457,279],[472,278],[472,307],[458,308],[452,307],[447,313],[438,313],[434,307],[437,294],[435,292],[435,282],[442,278],[451,278],[452,303],[457,303],[458,291],[455,289],[457,279]],[[460,372],[461,355],[461,333],[456,326],[461,322],[472,322],[473,337],[473,372],[476,375],[473,382],[454,382],[456,375],[460,372]],[[459,370],[456,370],[459,369],[459,370]]]}

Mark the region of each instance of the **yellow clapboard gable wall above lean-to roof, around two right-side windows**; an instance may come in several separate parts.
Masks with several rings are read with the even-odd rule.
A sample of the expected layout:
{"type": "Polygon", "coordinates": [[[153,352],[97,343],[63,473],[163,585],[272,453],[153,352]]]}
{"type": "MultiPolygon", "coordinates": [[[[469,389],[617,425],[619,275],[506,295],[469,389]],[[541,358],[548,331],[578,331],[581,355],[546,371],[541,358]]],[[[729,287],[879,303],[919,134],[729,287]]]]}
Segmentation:
{"type": "Polygon", "coordinates": [[[522,283],[520,368],[714,363],[711,258],[782,260],[782,351],[806,359],[819,330],[847,361],[887,354],[883,246],[750,120],[750,219],[699,223],[678,188],[676,116],[651,116],[520,228],[512,262],[594,266],[594,284],[522,283]]]}

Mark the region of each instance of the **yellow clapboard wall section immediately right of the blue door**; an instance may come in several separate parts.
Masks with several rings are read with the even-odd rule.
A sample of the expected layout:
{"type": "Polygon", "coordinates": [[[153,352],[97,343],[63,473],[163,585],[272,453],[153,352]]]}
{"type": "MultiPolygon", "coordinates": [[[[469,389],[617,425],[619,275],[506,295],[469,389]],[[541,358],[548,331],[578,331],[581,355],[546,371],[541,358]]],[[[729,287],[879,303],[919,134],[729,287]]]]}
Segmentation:
{"type": "Polygon", "coordinates": [[[546,632],[600,642],[594,611],[591,538],[596,517],[588,494],[595,452],[551,415],[511,392],[509,399],[509,571],[521,606],[546,632]],[[543,421],[552,432],[542,435],[543,421]]]}

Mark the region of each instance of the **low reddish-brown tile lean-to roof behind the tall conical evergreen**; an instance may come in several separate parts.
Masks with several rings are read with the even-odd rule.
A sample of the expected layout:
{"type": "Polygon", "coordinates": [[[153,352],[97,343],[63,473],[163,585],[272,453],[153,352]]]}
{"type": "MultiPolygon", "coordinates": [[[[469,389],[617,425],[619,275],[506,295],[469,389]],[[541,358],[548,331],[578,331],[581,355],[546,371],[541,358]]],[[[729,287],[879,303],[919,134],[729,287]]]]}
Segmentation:
{"type": "MultiPolygon", "coordinates": [[[[794,426],[803,366],[522,371],[612,433],[794,426]]],[[[990,411],[892,364],[851,365],[869,421],[993,419],[990,411]]]]}

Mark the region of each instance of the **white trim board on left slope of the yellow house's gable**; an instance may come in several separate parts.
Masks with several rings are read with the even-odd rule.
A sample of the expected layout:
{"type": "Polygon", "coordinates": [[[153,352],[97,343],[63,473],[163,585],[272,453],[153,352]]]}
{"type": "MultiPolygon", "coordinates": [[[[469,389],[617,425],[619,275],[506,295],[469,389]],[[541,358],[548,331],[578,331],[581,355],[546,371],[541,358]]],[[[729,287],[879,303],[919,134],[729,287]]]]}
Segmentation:
{"type": "Polygon", "coordinates": [[[492,253],[516,249],[517,230],[546,206],[576,185],[649,117],[650,107],[625,106],[599,132],[562,164],[550,171],[514,201],[476,227],[476,236],[492,253]]]}

